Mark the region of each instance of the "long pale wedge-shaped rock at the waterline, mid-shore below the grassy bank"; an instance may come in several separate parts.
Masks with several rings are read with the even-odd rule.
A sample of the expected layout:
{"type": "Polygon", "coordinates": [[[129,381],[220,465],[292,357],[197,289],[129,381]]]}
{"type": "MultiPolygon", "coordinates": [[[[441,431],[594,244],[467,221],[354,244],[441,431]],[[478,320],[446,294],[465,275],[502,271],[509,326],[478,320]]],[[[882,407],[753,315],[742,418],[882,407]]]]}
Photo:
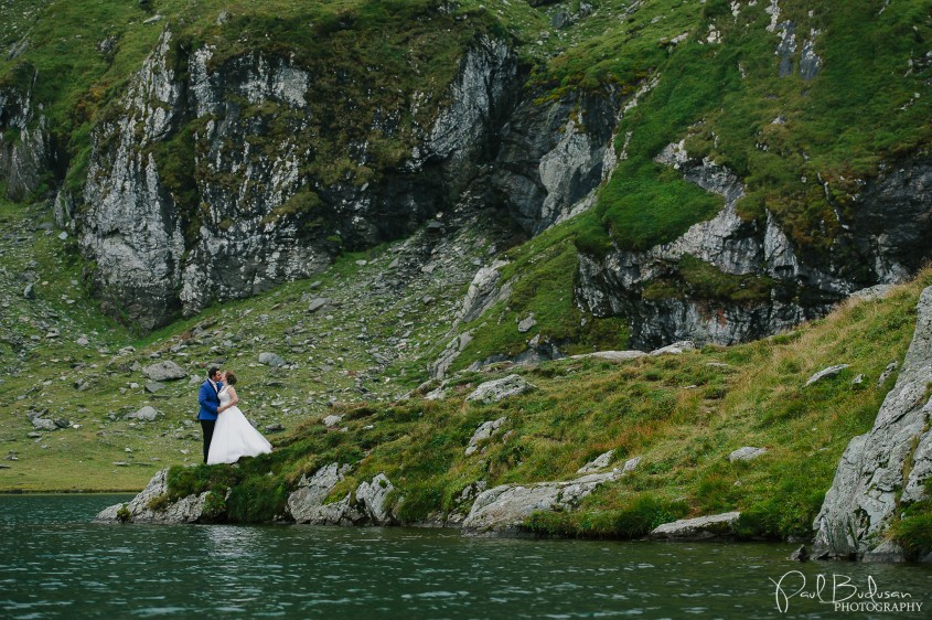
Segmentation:
{"type": "Polygon", "coordinates": [[[571,510],[599,485],[620,475],[618,471],[610,471],[566,482],[495,487],[475,499],[462,523],[463,534],[482,536],[513,533],[531,513],[571,510]]]}

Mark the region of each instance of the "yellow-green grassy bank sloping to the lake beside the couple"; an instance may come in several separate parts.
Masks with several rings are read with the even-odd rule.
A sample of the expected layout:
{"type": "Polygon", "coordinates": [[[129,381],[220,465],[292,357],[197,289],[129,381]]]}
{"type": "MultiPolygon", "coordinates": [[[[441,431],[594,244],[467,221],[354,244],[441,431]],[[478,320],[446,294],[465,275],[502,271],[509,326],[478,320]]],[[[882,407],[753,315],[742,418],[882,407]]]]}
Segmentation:
{"type": "MultiPolygon", "coordinates": [[[[780,338],[729,349],[612,364],[561,360],[539,366],[462,373],[442,400],[415,397],[393,404],[345,404],[345,432],[309,421],[272,457],[231,474],[228,468],[174,469],[173,475],[243,475],[261,484],[265,507],[237,509],[250,520],[277,514],[285,491],[328,462],[349,462],[342,496],[385,473],[404,498],[401,514],[418,521],[457,509],[472,482],[490,487],[569,479],[593,457],[642,457],[634,473],[606,484],[578,512],[537,514],[527,527],[542,534],[629,537],[661,521],[740,510],[749,537],[810,531],[849,439],[870,428],[885,392],[853,386],[856,374],[877,376],[901,360],[912,336],[920,290],[929,271],[883,301],[853,301],[829,318],[780,338]],[[832,381],[804,387],[812,373],[845,361],[832,381]],[[538,389],[494,405],[464,402],[479,382],[517,372],[538,389]],[[500,434],[471,457],[463,449],[483,421],[506,417],[500,434]],[[741,446],[768,453],[730,462],[741,446]],[[283,487],[282,487],[283,484],[283,487]]],[[[227,484],[226,478],[223,484],[227,484]]],[[[178,494],[206,490],[185,484],[178,494]]],[[[231,495],[231,502],[233,495],[231,495]]]]}

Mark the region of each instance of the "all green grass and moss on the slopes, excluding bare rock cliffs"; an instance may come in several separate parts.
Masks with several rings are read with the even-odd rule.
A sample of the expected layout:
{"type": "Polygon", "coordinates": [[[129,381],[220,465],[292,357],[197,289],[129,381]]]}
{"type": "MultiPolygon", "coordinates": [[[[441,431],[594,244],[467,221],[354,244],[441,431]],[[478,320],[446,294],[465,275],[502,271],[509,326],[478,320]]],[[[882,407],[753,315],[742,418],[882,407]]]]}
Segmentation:
{"type": "MultiPolygon", "coordinates": [[[[13,0],[4,4],[0,42],[4,49],[26,44],[0,60],[0,88],[32,92],[61,162],[69,164],[64,182],[77,192],[94,129],[124,114],[118,100],[127,81],[165,28],[181,76],[192,51],[204,45],[212,46],[212,68],[254,51],[287,58],[314,77],[307,115],[283,104],[231,104],[261,129],[248,137],[249,147],[268,153],[296,127],[310,125],[307,147],[315,157],[301,170],[303,189],[266,223],[300,217],[315,231],[325,223],[315,213],[321,199],[311,180],[362,184],[404,161],[416,127],[428,127],[446,103],[476,36],[495,34],[516,46],[542,105],[610,90],[630,101],[640,92],[619,126],[615,150],[624,157],[596,206],[507,253],[503,281],[511,281],[512,295],[463,325],[475,330],[474,339],[451,373],[493,354],[517,354],[536,336],[570,354],[625,348],[623,320],[596,320],[574,303],[577,249],[601,257],[612,247],[650,248],[721,207],[719,196],[655,161],[671,142],[685,139],[690,157],[738,174],[747,188],[741,215],[760,218],[769,210],[800,253],[816,259],[834,243],[839,216],[853,215],[865,180],[885,162],[928,150],[929,0],[871,0],[844,10],[837,2],[781,1],[780,21],[792,20],[801,42],[819,33],[815,53],[823,66],[811,81],[799,72],[779,76],[779,33],[767,30],[764,2],[742,3],[737,15],[724,0],[592,4],[591,15],[556,31],[548,15],[556,8],[526,2],[13,0]],[[156,14],[169,18],[146,23],[156,14]],[[361,143],[364,156],[353,149],[361,143]],[[532,313],[536,324],[518,332],[516,323],[532,313]]],[[[194,154],[205,120],[185,118],[171,139],[151,146],[188,218],[189,242],[202,209],[196,183],[205,171],[194,154]]],[[[3,133],[4,141],[19,139],[15,130],[3,133]]],[[[235,179],[212,182],[232,188],[235,179]]],[[[235,522],[279,517],[301,477],[330,462],[353,466],[334,495],[385,473],[396,499],[405,500],[401,516],[418,521],[460,507],[457,498],[478,480],[491,487],[567,479],[614,450],[615,462],[642,457],[634,473],[601,488],[579,511],[532,516],[527,528],[630,537],[669,519],[738,509],[746,536],[805,533],[842,451],[870,427],[885,395],[871,381],[851,386],[850,377],[875,377],[902,359],[919,291],[932,284],[924,271],[883,301],[850,302],[823,321],[757,343],[622,364],[493,365],[453,374],[446,399],[415,394],[405,400],[400,396],[426,378],[468,279],[413,285],[398,300],[366,306],[376,274],[393,258],[388,247],[377,247],[344,254],[317,287],[283,285],[140,336],[101,316],[87,290],[85,269],[94,266],[81,264],[73,239],[35,228],[49,220],[46,206],[0,201],[0,224],[9,231],[0,248],[0,432],[18,457],[0,470],[0,489],[139,489],[157,469],[174,466],[170,492],[154,505],[210,492],[210,516],[235,522]],[[34,300],[23,299],[20,276],[26,272],[36,276],[34,300]],[[426,292],[444,303],[421,301],[426,292]],[[309,314],[308,293],[339,304],[309,314]],[[79,344],[78,335],[88,343],[79,344]],[[371,349],[386,342],[398,355],[377,365],[371,349]],[[256,364],[258,351],[293,361],[289,381],[256,364]],[[234,366],[249,415],[287,427],[271,437],[276,451],[237,468],[195,464],[192,386],[174,383],[149,394],[139,385],[144,381],[135,365],[158,357],[181,360],[194,376],[214,360],[234,366]],[[839,362],[850,367],[803,387],[810,374],[839,362]],[[505,372],[523,374],[538,389],[496,405],[465,403],[475,385],[505,372]],[[127,417],[146,404],[161,411],[156,421],[127,417]],[[26,416],[39,411],[67,419],[68,428],[26,440],[33,430],[26,416]],[[344,415],[345,432],[320,424],[331,413],[344,415]],[[502,431],[465,457],[473,430],[503,416],[502,431]],[[728,453],[746,445],[769,451],[729,462],[728,453]]],[[[479,256],[485,248],[470,240],[469,252],[479,256]]],[[[644,295],[754,302],[773,286],[687,256],[644,295]]],[[[918,554],[932,546],[929,530],[929,503],[919,502],[906,507],[893,536],[918,554]]]]}

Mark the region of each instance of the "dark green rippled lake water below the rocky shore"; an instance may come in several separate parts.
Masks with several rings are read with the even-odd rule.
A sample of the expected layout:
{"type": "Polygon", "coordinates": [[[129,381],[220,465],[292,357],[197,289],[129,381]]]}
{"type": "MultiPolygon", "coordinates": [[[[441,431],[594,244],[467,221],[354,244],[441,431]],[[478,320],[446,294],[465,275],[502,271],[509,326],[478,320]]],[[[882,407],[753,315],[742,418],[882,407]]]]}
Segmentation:
{"type": "Polygon", "coordinates": [[[92,522],[127,500],[0,496],[0,618],[932,618],[932,569],[799,564],[790,545],[92,522]],[[872,582],[922,608],[836,611],[819,575],[823,600],[872,582]]]}

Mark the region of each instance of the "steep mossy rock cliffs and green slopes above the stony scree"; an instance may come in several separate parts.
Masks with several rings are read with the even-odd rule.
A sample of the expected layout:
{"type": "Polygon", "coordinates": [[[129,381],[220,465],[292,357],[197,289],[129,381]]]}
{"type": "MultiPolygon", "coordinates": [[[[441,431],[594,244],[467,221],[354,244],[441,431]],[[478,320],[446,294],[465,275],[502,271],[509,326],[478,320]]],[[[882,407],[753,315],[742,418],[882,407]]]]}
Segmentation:
{"type": "Polygon", "coordinates": [[[147,330],[454,210],[554,228],[469,363],[752,340],[928,256],[928,2],[86,4],[3,4],[0,178],[147,330]]]}

